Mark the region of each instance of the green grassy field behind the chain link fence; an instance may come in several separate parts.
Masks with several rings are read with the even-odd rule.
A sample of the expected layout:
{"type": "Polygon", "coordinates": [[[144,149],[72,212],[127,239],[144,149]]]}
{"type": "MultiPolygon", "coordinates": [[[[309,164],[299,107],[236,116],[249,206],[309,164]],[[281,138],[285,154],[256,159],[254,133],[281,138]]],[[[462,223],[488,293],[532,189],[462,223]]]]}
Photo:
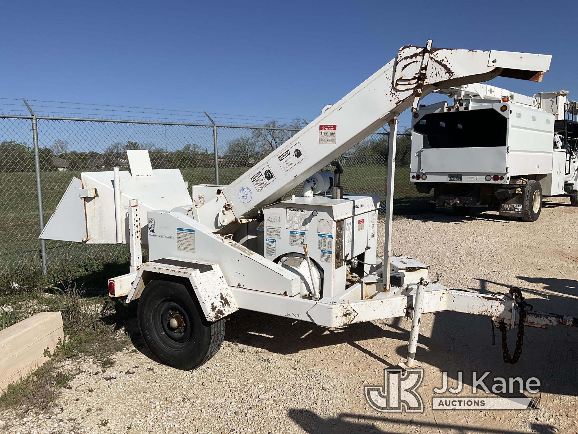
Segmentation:
{"type": "MultiPolygon", "coordinates": [[[[220,168],[220,183],[228,184],[246,170],[243,167],[220,168]]],[[[214,168],[186,168],[181,172],[189,186],[214,183],[214,168]]],[[[383,165],[345,165],[342,184],[345,192],[383,194],[384,199],[385,174],[386,167],[383,165]]],[[[80,178],[80,172],[42,173],[45,222],[54,212],[73,176],[80,178]]],[[[417,193],[409,182],[409,167],[396,168],[395,183],[395,212],[408,214],[423,208],[425,195],[417,193]]],[[[300,192],[299,186],[292,193],[300,192]]],[[[46,244],[50,269],[58,269],[61,273],[87,262],[114,262],[126,259],[128,255],[126,246],[86,246],[60,241],[47,241],[46,244]]],[[[0,271],[3,273],[14,268],[29,270],[38,267],[38,204],[34,172],[0,173],[0,246],[0,271]]],[[[82,271],[76,270],[76,273],[82,271]]]]}

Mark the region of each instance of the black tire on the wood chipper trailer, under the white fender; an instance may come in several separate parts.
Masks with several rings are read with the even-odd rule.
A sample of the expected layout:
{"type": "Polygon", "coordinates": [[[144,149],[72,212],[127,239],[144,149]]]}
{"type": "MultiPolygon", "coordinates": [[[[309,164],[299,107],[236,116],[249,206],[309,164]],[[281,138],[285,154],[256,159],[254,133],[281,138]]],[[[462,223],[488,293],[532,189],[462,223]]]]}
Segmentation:
{"type": "Polygon", "coordinates": [[[138,307],[140,333],[147,348],[165,365],[183,370],[206,363],[225,336],[225,319],[206,321],[189,288],[170,276],[155,279],[144,288],[138,307]],[[171,327],[171,318],[177,328],[171,327]]]}

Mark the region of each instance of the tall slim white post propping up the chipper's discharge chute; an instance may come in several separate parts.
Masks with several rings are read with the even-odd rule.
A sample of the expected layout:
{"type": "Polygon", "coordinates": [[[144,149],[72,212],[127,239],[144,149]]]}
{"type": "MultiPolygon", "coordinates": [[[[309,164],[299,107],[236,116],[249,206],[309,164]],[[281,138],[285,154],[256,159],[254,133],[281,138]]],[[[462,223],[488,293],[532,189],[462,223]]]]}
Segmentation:
{"type": "Polygon", "coordinates": [[[386,181],[386,236],[383,248],[383,285],[390,290],[391,261],[391,224],[394,212],[394,182],[395,182],[395,145],[397,143],[397,116],[390,122],[390,137],[387,152],[386,181]]]}

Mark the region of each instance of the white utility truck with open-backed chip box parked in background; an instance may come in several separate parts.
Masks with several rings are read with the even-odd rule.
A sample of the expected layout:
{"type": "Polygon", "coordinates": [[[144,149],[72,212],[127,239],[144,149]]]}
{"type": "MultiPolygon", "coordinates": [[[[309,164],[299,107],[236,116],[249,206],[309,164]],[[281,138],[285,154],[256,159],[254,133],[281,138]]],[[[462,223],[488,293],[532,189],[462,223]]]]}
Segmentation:
{"type": "Polygon", "coordinates": [[[544,196],[578,206],[578,122],[568,91],[528,97],[475,83],[439,93],[453,105],[413,114],[410,168],[418,192],[434,190],[436,208],[497,209],[533,222],[544,196]]]}

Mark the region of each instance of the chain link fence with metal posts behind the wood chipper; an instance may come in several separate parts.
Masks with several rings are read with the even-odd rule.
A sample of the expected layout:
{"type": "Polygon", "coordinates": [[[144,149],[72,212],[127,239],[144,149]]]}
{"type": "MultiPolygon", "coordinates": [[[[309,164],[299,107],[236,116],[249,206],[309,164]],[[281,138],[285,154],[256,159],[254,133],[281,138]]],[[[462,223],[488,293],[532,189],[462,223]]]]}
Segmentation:
{"type": "MultiPolygon", "coordinates": [[[[279,126],[273,121],[251,127],[0,115],[0,273],[9,278],[41,267],[34,119],[38,125],[44,222],[74,176],[80,178],[82,171],[108,171],[114,166],[127,169],[127,149],[148,149],[153,168],[179,168],[189,186],[216,183],[217,177],[218,183],[226,185],[304,125],[279,126]]],[[[340,157],[346,192],[385,198],[387,145],[388,133],[381,130],[340,157]]],[[[408,214],[423,209],[429,197],[417,193],[409,181],[409,131],[403,129],[398,135],[397,150],[394,212],[408,214]]],[[[299,193],[297,190],[287,193],[299,193]]],[[[45,258],[49,273],[79,269],[79,274],[87,263],[127,260],[128,247],[46,241],[45,258]]]]}

